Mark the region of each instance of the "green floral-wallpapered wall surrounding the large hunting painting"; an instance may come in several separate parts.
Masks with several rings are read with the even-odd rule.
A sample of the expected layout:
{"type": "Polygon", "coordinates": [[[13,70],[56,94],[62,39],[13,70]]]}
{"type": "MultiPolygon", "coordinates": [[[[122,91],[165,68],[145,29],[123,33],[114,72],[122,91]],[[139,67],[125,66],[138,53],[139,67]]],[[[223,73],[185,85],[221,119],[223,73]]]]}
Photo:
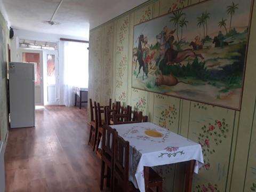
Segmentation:
{"type": "MultiPolygon", "coordinates": [[[[241,111],[132,89],[133,26],[194,3],[198,0],[149,1],[92,29],[89,98],[107,105],[111,97],[138,107],[149,116],[149,121],[184,137],[201,143],[208,139],[210,146],[203,147],[206,166],[194,175],[193,191],[203,191],[204,187],[208,191],[253,191],[254,188],[256,190],[256,11],[252,17],[241,111]],[[204,133],[210,126],[215,127],[218,137],[204,133]],[[210,190],[211,187],[214,190],[210,190]]],[[[158,169],[165,178],[166,191],[181,191],[182,166],[170,165],[158,169]]]]}

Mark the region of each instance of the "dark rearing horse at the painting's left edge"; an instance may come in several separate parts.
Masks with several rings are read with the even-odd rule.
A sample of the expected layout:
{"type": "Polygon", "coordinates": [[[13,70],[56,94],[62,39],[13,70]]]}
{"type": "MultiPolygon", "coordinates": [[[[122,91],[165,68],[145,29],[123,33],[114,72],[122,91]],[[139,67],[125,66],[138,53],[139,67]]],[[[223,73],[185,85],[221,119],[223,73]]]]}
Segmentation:
{"type": "Polygon", "coordinates": [[[146,68],[145,68],[145,62],[143,60],[143,51],[142,51],[142,43],[144,43],[144,35],[140,35],[137,39],[139,41],[138,43],[138,49],[137,49],[137,52],[134,53],[133,55],[137,57],[137,60],[135,61],[136,64],[135,64],[135,69],[137,68],[137,61],[139,62],[139,72],[137,74],[137,77],[139,76],[140,74],[140,70],[142,68],[143,70],[143,75],[142,75],[142,80],[144,80],[144,74],[146,74],[146,76],[148,76],[147,74],[147,71],[146,71],[146,68]]]}

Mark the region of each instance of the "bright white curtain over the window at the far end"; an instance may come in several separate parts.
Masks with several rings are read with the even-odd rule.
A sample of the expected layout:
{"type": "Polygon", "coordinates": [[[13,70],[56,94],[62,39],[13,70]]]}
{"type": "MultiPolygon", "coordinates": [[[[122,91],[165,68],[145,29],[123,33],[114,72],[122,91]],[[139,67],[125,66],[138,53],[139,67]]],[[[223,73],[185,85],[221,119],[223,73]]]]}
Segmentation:
{"type": "Polygon", "coordinates": [[[88,88],[88,43],[65,42],[64,104],[74,106],[75,87],[88,88]]]}

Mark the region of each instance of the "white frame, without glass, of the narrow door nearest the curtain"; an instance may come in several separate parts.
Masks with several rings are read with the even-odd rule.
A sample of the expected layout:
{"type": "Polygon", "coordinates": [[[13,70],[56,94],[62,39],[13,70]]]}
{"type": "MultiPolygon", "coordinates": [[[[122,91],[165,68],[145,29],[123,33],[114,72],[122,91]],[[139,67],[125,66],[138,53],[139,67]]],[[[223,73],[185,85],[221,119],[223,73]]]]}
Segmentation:
{"type": "Polygon", "coordinates": [[[44,67],[44,105],[60,105],[60,78],[59,78],[59,55],[58,51],[55,50],[44,50],[43,51],[43,67],[44,67]],[[47,101],[47,54],[55,55],[55,101],[47,101]]]}

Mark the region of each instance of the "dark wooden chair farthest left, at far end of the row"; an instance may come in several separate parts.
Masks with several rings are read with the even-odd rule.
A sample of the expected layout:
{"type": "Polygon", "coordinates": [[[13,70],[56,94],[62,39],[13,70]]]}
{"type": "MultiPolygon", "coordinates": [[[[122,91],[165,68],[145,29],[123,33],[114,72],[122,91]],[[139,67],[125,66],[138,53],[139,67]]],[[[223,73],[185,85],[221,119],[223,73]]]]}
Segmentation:
{"type": "Polygon", "coordinates": [[[95,147],[95,140],[96,140],[96,134],[97,134],[97,124],[95,122],[94,119],[94,115],[96,114],[95,112],[93,112],[93,109],[95,111],[95,107],[92,105],[92,99],[90,99],[90,114],[91,114],[91,122],[90,122],[90,135],[89,135],[89,141],[88,141],[88,145],[92,146],[93,150],[95,147]]]}

